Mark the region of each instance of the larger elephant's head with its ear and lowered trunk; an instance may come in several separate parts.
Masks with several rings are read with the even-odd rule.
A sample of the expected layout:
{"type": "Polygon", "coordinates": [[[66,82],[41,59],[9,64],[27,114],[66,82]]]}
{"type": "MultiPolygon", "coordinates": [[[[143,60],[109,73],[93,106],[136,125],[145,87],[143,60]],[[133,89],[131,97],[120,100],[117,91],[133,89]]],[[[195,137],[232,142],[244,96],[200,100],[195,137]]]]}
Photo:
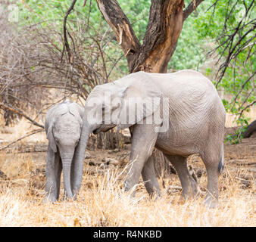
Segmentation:
{"type": "MultiPolygon", "coordinates": [[[[147,73],[132,73],[115,82],[97,85],[86,100],[83,129],[74,159],[83,163],[91,132],[125,129],[158,110],[161,92],[147,73]],[[136,74],[136,75],[134,75],[136,74]]],[[[80,166],[83,169],[83,166],[80,166]]],[[[82,176],[80,171],[80,178],[82,176]]],[[[79,189],[78,182],[76,189],[79,189]]]]}

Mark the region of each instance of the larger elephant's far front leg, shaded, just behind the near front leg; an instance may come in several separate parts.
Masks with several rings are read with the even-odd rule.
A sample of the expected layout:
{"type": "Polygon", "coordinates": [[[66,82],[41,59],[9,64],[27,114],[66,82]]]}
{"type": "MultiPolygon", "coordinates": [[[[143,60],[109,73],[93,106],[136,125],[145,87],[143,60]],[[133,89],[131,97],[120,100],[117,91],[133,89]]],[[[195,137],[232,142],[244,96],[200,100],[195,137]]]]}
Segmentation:
{"type": "Polygon", "coordinates": [[[153,197],[154,194],[157,194],[160,197],[161,192],[158,185],[158,180],[155,175],[154,159],[149,157],[142,169],[142,178],[145,182],[145,188],[148,191],[148,194],[153,197]]]}

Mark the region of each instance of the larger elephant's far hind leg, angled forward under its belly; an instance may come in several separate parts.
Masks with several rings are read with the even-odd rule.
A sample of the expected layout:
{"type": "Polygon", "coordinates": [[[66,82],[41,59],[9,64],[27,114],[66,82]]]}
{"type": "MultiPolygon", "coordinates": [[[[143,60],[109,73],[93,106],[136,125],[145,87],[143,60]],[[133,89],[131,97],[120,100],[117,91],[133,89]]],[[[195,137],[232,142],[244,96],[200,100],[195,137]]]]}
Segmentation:
{"type": "Polygon", "coordinates": [[[198,182],[190,175],[186,157],[170,156],[165,154],[170,163],[172,163],[174,169],[178,173],[180,183],[183,188],[183,197],[188,199],[189,197],[195,197],[198,194],[198,182]]]}

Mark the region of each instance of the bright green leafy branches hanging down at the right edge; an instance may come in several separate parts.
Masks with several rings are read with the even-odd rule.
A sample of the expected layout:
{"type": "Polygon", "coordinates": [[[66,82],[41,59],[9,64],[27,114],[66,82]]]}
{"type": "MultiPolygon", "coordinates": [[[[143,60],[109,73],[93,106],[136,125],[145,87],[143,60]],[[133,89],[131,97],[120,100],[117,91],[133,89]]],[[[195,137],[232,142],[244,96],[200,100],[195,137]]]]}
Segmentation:
{"type": "Polygon", "coordinates": [[[213,73],[218,74],[219,79],[214,79],[214,84],[219,82],[218,88],[223,88],[225,94],[232,95],[231,100],[223,100],[226,112],[236,115],[238,117],[236,125],[241,126],[235,135],[229,135],[226,138],[230,143],[238,143],[243,138],[242,134],[248,126],[248,118],[245,118],[243,111],[249,111],[250,108],[245,107],[255,100],[256,56],[253,53],[256,51],[256,45],[254,45],[256,36],[255,31],[251,31],[253,24],[256,24],[255,5],[252,5],[248,14],[245,14],[251,3],[251,0],[233,0],[228,4],[226,0],[217,2],[211,0],[208,4],[214,6],[195,20],[198,39],[214,40],[214,48],[217,47],[216,60],[219,59],[219,61],[215,60],[216,70],[207,70],[205,74],[207,76],[212,76],[213,73]],[[236,29],[238,29],[237,33],[236,29]],[[231,59],[225,66],[229,56],[231,59]],[[217,72],[218,66],[222,67],[219,72],[217,72]],[[222,75],[223,70],[224,75],[222,75]]]}

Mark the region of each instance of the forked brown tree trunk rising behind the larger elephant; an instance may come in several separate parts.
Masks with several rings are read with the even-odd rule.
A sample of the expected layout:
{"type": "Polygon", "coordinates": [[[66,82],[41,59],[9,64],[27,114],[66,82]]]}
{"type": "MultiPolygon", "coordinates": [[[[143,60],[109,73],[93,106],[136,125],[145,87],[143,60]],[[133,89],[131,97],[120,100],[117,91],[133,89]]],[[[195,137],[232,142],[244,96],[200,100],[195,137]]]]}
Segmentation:
{"type": "MultiPolygon", "coordinates": [[[[203,0],[192,0],[183,11],[184,0],[151,0],[148,26],[142,45],[136,38],[130,21],[116,0],[97,0],[98,8],[113,29],[117,42],[126,56],[129,73],[139,70],[152,73],[166,73],[167,64],[172,57],[183,20],[203,0]]],[[[155,150],[155,169],[157,175],[169,167],[164,155],[155,150]]]]}

